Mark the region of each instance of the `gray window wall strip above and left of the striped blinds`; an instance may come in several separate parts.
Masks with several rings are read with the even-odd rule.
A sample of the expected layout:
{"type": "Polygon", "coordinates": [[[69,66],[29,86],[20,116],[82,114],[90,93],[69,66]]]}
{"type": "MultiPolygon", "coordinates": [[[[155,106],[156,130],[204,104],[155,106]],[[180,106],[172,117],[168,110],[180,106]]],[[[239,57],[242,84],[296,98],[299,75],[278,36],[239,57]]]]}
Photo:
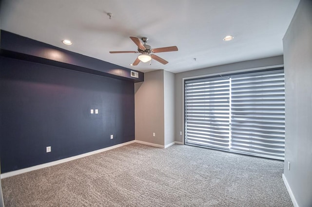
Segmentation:
{"type": "MultiPolygon", "coordinates": [[[[238,62],[233,64],[227,64],[222,66],[215,66],[206,69],[196,69],[187,72],[176,73],[175,77],[175,103],[176,103],[176,141],[183,142],[183,136],[179,135],[180,131],[183,131],[183,78],[202,76],[209,74],[219,74],[224,72],[232,72],[235,70],[243,69],[256,69],[263,67],[271,67],[283,64],[283,56],[275,56],[257,60],[250,60],[244,62],[238,62]]],[[[183,133],[184,134],[184,133],[183,133]]]]}

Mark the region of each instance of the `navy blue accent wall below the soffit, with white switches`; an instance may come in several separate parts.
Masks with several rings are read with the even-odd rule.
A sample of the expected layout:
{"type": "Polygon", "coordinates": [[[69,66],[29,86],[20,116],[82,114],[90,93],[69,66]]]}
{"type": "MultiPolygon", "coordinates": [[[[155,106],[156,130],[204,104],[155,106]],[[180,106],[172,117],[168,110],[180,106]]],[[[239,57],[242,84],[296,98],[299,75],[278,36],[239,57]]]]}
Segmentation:
{"type": "Polygon", "coordinates": [[[133,82],[0,57],[1,173],[134,140],[134,103],[133,82]]]}

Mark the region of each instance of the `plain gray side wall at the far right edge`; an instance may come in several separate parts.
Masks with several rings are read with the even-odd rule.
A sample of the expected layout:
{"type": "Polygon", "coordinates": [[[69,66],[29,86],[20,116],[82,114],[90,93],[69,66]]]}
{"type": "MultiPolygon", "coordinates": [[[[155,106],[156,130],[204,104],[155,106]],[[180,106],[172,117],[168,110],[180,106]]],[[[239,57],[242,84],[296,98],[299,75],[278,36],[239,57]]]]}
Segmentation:
{"type": "Polygon", "coordinates": [[[301,0],[283,39],[286,83],[284,176],[299,207],[312,207],[311,37],[312,1],[301,0]]]}

